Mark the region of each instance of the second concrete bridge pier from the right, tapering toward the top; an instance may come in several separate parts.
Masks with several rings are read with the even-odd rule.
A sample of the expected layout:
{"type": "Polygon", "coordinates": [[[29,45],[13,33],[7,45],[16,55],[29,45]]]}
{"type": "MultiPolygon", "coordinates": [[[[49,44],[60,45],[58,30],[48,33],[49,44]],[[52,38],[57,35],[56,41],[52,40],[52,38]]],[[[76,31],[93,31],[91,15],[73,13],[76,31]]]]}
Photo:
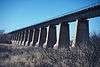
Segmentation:
{"type": "Polygon", "coordinates": [[[58,48],[69,48],[69,46],[70,46],[69,24],[68,22],[63,22],[61,23],[60,26],[58,48]]]}

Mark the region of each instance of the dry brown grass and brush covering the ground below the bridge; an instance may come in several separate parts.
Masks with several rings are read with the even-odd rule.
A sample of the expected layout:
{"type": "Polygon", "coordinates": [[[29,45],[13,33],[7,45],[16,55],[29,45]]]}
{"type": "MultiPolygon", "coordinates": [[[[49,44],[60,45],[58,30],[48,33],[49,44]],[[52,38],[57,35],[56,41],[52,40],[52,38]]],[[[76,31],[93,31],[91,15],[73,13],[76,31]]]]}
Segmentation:
{"type": "Polygon", "coordinates": [[[100,35],[70,49],[2,45],[0,67],[100,67],[100,35]]]}

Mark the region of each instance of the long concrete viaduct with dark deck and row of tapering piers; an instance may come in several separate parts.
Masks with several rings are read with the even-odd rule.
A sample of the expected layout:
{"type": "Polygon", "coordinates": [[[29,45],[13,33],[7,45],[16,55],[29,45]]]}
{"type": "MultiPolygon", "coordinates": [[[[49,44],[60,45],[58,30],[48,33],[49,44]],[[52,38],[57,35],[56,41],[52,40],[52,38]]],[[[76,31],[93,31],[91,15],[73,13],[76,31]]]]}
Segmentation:
{"type": "Polygon", "coordinates": [[[80,11],[54,18],[36,25],[9,32],[11,41],[17,45],[36,46],[44,48],[69,48],[70,22],[77,21],[75,43],[79,46],[82,41],[89,39],[89,20],[100,16],[100,4],[82,9],[80,11]],[[59,39],[57,39],[56,25],[60,24],[59,39]]]}

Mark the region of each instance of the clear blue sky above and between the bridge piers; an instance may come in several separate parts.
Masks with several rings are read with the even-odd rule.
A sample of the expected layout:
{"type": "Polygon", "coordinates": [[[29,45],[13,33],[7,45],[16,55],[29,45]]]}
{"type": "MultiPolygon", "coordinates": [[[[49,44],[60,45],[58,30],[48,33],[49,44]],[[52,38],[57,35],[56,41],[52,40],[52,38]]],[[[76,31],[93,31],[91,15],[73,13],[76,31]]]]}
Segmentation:
{"type": "MultiPolygon", "coordinates": [[[[80,10],[100,0],[0,0],[0,30],[11,32],[23,27],[80,10]]],[[[100,32],[100,17],[89,19],[91,33],[100,32]]],[[[71,38],[76,23],[70,23],[71,38]]]]}

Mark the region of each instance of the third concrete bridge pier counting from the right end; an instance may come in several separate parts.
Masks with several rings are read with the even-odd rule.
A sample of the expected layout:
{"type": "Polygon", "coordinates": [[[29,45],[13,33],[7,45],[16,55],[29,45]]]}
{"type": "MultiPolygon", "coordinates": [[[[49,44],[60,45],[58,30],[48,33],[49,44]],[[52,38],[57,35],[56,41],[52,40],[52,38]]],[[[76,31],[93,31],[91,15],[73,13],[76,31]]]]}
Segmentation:
{"type": "Polygon", "coordinates": [[[57,41],[55,25],[49,26],[49,31],[47,35],[48,35],[48,39],[47,39],[46,48],[53,48],[53,46],[56,44],[57,41]]]}

